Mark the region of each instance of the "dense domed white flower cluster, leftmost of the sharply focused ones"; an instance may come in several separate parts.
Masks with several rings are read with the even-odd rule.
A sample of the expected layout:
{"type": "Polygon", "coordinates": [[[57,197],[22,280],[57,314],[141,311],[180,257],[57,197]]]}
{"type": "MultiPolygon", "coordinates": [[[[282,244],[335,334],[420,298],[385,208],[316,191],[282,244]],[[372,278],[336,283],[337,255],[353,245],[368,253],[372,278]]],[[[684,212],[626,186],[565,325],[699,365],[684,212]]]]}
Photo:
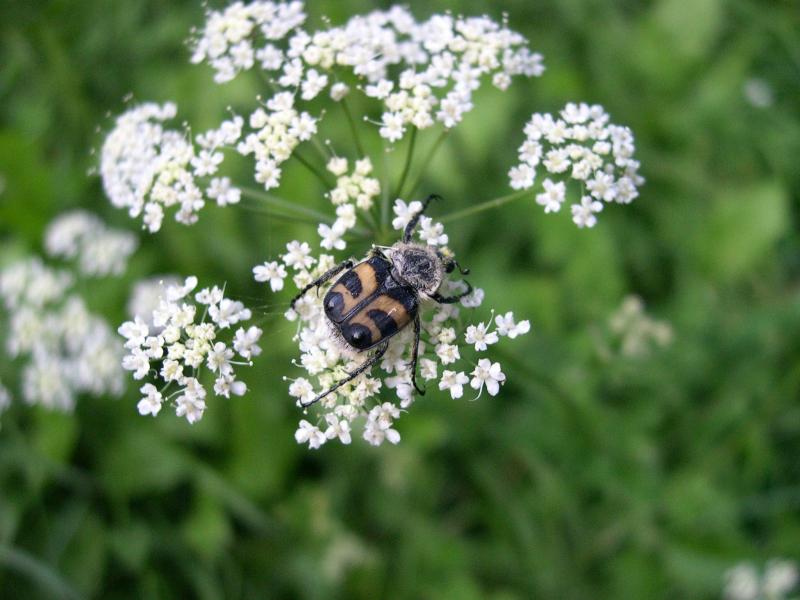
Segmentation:
{"type": "Polygon", "coordinates": [[[111,203],[127,208],[131,217],[143,215],[150,232],[161,228],[164,211],[172,206],[178,207],[175,220],[191,225],[206,197],[222,206],[240,197],[227,177],[210,179],[205,194],[199,180],[217,172],[224,158],[220,150],[238,142],[244,120],[234,116],[197,135],[195,147],[188,133],[164,127],[176,114],[173,103],[131,108],[117,117],[100,155],[100,175],[111,203]]]}

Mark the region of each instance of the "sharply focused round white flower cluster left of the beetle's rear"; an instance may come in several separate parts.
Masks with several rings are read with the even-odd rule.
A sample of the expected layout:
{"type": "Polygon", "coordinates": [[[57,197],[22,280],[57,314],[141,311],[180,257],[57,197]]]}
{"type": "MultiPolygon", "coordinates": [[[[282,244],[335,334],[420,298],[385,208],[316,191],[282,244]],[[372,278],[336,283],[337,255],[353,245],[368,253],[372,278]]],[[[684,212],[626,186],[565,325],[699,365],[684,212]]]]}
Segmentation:
{"type": "Polygon", "coordinates": [[[133,371],[134,379],[153,374],[164,383],[160,389],[152,383],[140,388],[143,397],[137,408],[142,415],[155,416],[164,402],[173,401],[179,417],[189,423],[199,421],[206,408],[207,390],[200,382],[204,366],[214,374],[217,396],[230,398],[247,391],[236,379],[234,366],[251,365],[251,359],[261,354],[261,329],[240,327],[227,343],[221,341],[224,330],[248,321],[252,314],[241,302],[225,298],[216,286],[200,290],[192,301],[195,287],[196,277],[188,277],[183,285],[166,286],[151,314],[137,315],[118,330],[127,340],[123,368],[133,371]],[[234,353],[241,360],[234,360],[234,353]],[[177,389],[167,394],[173,386],[177,389]]]}

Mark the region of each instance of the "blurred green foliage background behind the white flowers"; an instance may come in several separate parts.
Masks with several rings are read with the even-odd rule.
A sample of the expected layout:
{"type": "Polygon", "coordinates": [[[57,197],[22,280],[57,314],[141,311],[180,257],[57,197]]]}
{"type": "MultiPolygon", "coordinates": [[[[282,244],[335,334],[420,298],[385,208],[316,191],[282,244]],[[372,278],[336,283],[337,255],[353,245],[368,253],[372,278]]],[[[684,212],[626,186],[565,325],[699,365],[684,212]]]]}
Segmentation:
{"type": "MultiPolygon", "coordinates": [[[[0,597],[715,598],[741,560],[800,559],[798,4],[444,8],[508,11],[548,70],[480,93],[422,187],[447,199],[440,214],[506,193],[522,125],[568,100],[632,127],[648,180],[593,230],[532,200],[448,226],[486,305],[533,324],[499,349],[503,393],[431,391],[399,446],[311,452],[281,381],[292,329],[267,315],[251,392],[215,398],[198,425],[139,417],[132,385],[74,415],[17,402],[0,430],[0,597]],[[631,293],[673,343],[600,353],[631,293]]],[[[3,262],[39,252],[69,208],[138,231],[89,175],[127,94],[177,101],[197,130],[252,107],[257,79],[216,86],[189,65],[202,21],[194,2],[0,3],[3,262]]],[[[322,206],[321,191],[294,166],[280,190],[322,206]]],[[[89,302],[116,324],[133,282],[178,273],[263,306],[250,269],[298,237],[313,231],[243,209],[170,218],[89,302]]],[[[18,383],[13,363],[0,378],[18,383]]]]}

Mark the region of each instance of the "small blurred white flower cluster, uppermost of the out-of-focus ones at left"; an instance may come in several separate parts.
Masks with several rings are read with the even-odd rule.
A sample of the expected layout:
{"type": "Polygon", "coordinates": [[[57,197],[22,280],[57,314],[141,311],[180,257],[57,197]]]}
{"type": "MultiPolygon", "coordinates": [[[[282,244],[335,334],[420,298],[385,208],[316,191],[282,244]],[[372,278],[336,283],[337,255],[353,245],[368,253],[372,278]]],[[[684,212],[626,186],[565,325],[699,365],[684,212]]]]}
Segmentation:
{"type": "Polygon", "coordinates": [[[75,210],[53,220],[45,232],[45,250],[55,258],[76,260],[89,277],[120,275],[136,250],[136,236],[111,229],[93,214],[75,210]]]}

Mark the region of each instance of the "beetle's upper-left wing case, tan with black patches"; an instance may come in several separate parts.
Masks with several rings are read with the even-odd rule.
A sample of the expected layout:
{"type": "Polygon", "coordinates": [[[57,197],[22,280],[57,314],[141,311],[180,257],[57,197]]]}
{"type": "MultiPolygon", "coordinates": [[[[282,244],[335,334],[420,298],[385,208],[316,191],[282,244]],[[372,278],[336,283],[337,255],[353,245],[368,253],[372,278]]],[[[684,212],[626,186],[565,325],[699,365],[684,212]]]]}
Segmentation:
{"type": "Polygon", "coordinates": [[[325,294],[325,316],[334,323],[344,321],[361,303],[383,290],[391,268],[386,258],[371,256],[345,271],[325,294]]]}

